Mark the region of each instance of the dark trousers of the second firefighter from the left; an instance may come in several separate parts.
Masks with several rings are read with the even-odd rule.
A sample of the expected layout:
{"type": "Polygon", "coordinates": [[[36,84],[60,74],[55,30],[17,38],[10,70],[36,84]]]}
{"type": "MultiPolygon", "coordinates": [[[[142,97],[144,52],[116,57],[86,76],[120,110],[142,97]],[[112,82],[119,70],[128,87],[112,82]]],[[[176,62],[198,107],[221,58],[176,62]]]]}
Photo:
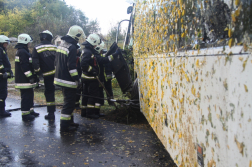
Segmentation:
{"type": "Polygon", "coordinates": [[[34,91],[33,88],[29,89],[20,89],[21,93],[21,111],[30,111],[33,108],[33,98],[34,98],[34,91]]]}

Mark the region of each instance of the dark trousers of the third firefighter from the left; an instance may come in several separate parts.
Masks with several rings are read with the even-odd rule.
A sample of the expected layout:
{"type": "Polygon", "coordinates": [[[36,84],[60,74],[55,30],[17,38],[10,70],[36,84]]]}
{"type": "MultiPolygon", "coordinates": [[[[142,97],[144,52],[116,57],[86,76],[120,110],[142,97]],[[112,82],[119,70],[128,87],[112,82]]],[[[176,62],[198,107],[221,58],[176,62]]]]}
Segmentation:
{"type": "Polygon", "coordinates": [[[45,84],[45,97],[48,113],[54,113],[56,110],[55,107],[55,86],[54,86],[54,75],[44,77],[45,84]]]}

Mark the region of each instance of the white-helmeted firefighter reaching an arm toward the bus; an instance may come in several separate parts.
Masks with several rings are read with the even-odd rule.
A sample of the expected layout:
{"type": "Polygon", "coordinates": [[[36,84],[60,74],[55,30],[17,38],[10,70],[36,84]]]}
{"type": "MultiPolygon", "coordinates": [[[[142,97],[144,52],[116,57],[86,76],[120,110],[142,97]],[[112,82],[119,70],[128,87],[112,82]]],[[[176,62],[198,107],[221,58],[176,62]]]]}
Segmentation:
{"type": "Polygon", "coordinates": [[[101,44],[101,39],[97,34],[90,34],[87,40],[82,43],[84,45],[83,54],[81,57],[82,80],[84,82],[82,96],[81,116],[92,119],[99,118],[100,103],[99,103],[99,64],[112,61],[113,55],[108,57],[100,57],[95,48],[101,44]],[[95,98],[98,97],[98,98],[95,98]]]}

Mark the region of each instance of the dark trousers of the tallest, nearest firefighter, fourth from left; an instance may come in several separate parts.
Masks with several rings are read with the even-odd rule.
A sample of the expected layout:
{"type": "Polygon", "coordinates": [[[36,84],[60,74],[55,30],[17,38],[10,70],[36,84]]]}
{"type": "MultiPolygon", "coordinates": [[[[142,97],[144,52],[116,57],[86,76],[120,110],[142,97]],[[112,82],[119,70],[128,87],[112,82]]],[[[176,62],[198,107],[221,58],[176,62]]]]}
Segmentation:
{"type": "Polygon", "coordinates": [[[75,97],[76,97],[76,88],[62,88],[62,93],[64,96],[64,105],[61,111],[61,114],[69,115],[69,120],[71,119],[74,107],[75,107],[75,97]]]}

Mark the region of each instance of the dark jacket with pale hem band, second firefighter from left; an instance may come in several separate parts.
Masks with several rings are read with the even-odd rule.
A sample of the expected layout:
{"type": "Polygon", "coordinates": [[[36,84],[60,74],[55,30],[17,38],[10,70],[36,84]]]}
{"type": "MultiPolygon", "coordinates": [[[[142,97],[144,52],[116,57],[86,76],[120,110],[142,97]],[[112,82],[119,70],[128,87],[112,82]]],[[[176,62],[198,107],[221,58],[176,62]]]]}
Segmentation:
{"type": "Polygon", "coordinates": [[[28,47],[24,44],[17,44],[15,56],[15,88],[29,89],[37,86],[37,83],[30,83],[31,78],[36,78],[32,67],[32,57],[28,47]]]}

